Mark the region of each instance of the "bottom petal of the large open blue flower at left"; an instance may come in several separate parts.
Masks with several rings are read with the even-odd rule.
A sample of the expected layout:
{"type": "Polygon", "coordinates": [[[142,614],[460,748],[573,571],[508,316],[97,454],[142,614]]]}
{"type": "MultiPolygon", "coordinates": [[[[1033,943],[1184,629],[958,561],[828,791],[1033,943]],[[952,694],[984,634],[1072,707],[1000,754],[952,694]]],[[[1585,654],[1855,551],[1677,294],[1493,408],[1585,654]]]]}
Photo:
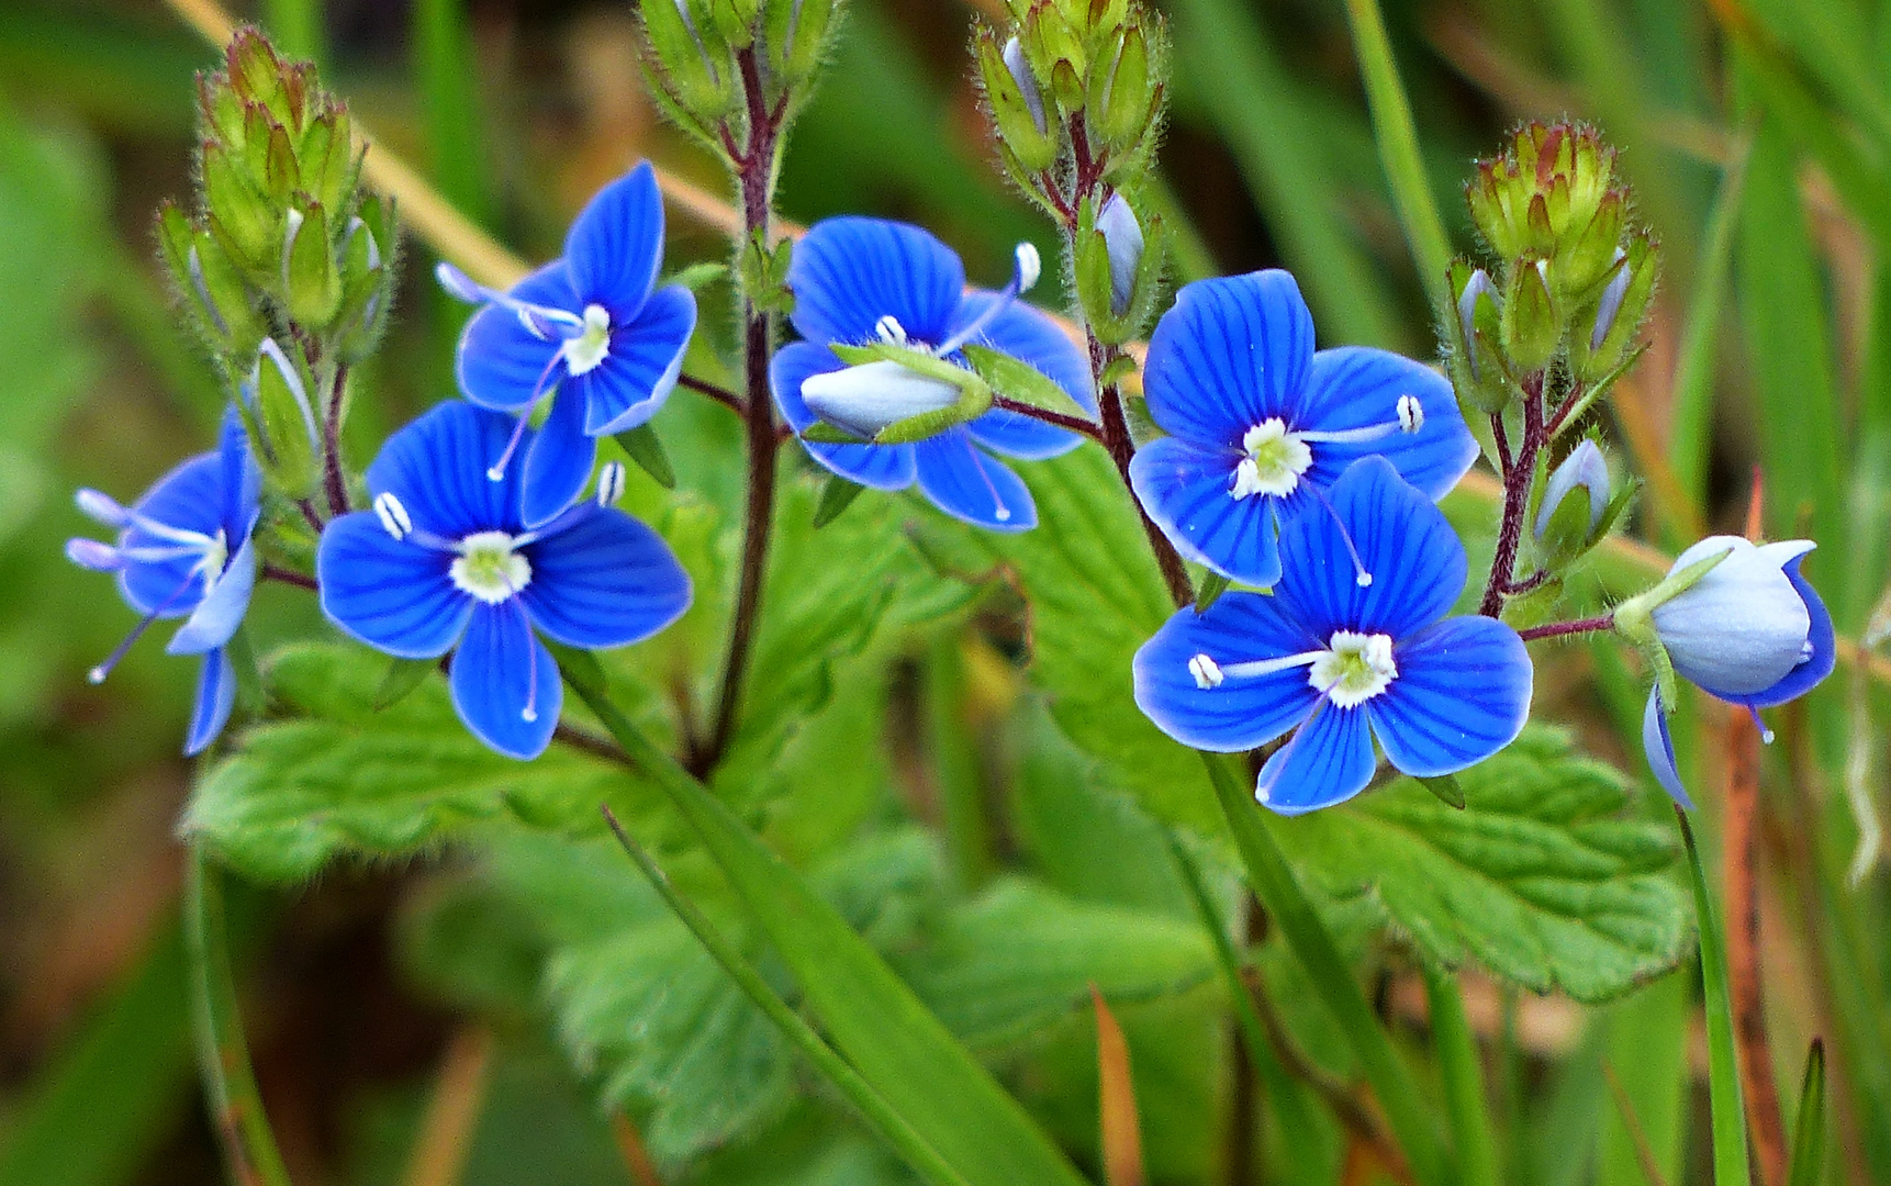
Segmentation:
{"type": "Polygon", "coordinates": [[[473,736],[505,757],[531,760],[552,743],[565,689],[516,602],[473,611],[446,683],[473,736]]]}

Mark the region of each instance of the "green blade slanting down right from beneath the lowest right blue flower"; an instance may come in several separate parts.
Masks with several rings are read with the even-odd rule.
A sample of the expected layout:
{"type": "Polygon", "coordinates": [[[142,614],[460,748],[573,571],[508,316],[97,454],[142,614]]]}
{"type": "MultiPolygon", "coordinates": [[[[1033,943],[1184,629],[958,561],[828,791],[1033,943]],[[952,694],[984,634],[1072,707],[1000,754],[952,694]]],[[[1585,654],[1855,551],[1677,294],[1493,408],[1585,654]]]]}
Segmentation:
{"type": "Polygon", "coordinates": [[[1229,772],[1227,762],[1208,753],[1201,757],[1208,766],[1208,777],[1214,781],[1227,827],[1235,832],[1235,846],[1248,868],[1248,883],[1314,982],[1320,1003],[1346,1035],[1373,1095],[1379,1097],[1379,1107],[1386,1112],[1392,1135],[1411,1161],[1413,1177],[1420,1186],[1447,1186],[1454,1175],[1437,1125],[1418,1097],[1411,1071],[1399,1061],[1392,1040],[1373,1014],[1371,1003],[1352,978],[1345,955],[1339,953],[1339,944],[1314,914],[1312,902],[1293,880],[1293,870],[1288,868],[1286,855],[1261,821],[1259,808],[1229,772]]]}

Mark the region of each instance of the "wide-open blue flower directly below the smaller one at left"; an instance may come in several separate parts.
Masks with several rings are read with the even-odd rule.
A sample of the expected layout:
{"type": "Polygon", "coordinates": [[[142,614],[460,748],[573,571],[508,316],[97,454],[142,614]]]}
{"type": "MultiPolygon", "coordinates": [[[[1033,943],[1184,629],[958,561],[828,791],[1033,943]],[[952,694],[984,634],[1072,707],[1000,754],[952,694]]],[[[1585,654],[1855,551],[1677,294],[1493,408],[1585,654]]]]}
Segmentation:
{"type": "MultiPolygon", "coordinates": [[[[401,658],[454,653],[454,707],[480,741],[514,759],[545,751],[564,689],[533,630],[569,647],[620,647],[673,622],[690,579],[651,528],[598,499],[528,528],[516,473],[486,467],[511,448],[512,420],[444,403],[408,424],[367,469],[373,511],[321,533],[321,609],[350,636],[401,658]]],[[[526,435],[526,446],[531,433],[526,435]]]]}

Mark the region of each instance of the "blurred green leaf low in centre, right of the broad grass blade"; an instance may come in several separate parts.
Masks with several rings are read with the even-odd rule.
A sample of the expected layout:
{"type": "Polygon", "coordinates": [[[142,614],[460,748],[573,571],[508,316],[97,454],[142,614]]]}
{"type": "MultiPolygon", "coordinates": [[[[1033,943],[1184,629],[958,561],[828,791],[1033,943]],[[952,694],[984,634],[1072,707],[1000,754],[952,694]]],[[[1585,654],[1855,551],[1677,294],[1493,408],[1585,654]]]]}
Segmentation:
{"type": "Polygon", "coordinates": [[[995,1050],[1080,1012],[1089,985],[1114,1006],[1182,993],[1212,974],[1201,927],[1008,880],[944,921],[908,982],[968,1046],[995,1050]]]}

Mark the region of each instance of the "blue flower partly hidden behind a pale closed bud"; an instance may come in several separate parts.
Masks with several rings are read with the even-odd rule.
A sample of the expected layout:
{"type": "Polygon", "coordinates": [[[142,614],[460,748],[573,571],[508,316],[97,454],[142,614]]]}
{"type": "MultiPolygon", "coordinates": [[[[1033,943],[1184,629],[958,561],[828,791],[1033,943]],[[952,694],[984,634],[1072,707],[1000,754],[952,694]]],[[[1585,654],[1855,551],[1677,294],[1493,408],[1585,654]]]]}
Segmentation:
{"type": "MultiPolygon", "coordinates": [[[[815,380],[817,393],[840,388],[826,390],[826,395],[864,409],[874,403],[870,392],[860,390],[862,378],[876,375],[872,365],[840,375],[845,367],[828,346],[891,339],[930,348],[951,361],[963,361],[957,350],[966,342],[1002,350],[1051,376],[1082,407],[1095,410],[1084,356],[1055,322],[1015,299],[1034,278],[1027,272],[1021,267],[1004,291],[968,293],[964,265],[951,248],[919,227],[874,218],[817,223],[794,246],[794,261],[789,265],[794,327],[806,340],[790,342],[775,354],[770,369],[775,407],[794,431],[815,424],[817,416],[804,392],[815,380]],[[824,375],[836,378],[821,380],[824,375]]],[[[942,392],[913,388],[911,382],[898,382],[900,376],[889,378],[894,380],[894,390],[887,392],[887,403],[902,409],[913,399],[925,403],[928,397],[951,403],[942,392]]],[[[947,388],[936,380],[930,386],[947,388]]],[[[1023,532],[1038,522],[1031,492],[985,450],[1038,462],[1076,448],[1078,437],[1040,420],[993,409],[970,424],[915,445],[802,445],[815,462],[851,482],[904,490],[917,480],[932,505],[955,518],[998,532],[1023,532]]]]}

